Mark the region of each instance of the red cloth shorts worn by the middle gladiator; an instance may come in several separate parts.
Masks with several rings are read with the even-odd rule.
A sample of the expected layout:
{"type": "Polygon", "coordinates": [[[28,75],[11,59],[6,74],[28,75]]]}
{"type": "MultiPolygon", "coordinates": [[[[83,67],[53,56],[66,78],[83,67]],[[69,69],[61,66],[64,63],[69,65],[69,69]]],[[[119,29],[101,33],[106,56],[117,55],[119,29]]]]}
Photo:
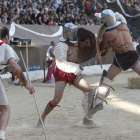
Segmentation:
{"type": "Polygon", "coordinates": [[[76,75],[74,73],[66,73],[57,67],[54,70],[55,82],[57,81],[67,81],[68,83],[72,83],[74,79],[76,79],[76,75]]]}

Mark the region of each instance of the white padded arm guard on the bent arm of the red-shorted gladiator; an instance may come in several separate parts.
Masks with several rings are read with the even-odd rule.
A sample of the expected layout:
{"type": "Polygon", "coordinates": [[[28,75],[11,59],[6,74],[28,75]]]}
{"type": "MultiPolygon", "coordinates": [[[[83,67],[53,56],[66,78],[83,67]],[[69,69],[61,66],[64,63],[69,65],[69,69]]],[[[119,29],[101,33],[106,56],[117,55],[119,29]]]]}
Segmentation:
{"type": "Polygon", "coordinates": [[[60,42],[57,44],[55,47],[56,66],[64,72],[80,75],[82,70],[80,69],[79,64],[67,61],[68,50],[69,47],[66,43],[60,42]]]}

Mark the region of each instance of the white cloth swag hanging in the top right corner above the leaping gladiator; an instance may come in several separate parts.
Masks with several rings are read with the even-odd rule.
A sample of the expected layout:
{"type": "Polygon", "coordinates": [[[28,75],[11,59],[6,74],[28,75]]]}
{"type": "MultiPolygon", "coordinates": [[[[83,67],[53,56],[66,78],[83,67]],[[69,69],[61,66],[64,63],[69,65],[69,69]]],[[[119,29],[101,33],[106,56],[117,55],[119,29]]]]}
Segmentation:
{"type": "Polygon", "coordinates": [[[122,5],[121,5],[121,3],[120,3],[120,0],[106,0],[106,1],[107,1],[108,3],[114,3],[114,2],[116,1],[117,4],[119,5],[119,7],[121,8],[123,14],[124,14],[126,17],[133,17],[133,18],[136,18],[136,17],[139,17],[139,16],[140,16],[140,13],[137,14],[137,15],[133,15],[133,16],[127,14],[127,13],[125,12],[125,10],[123,9],[123,7],[122,7],[122,5]]]}

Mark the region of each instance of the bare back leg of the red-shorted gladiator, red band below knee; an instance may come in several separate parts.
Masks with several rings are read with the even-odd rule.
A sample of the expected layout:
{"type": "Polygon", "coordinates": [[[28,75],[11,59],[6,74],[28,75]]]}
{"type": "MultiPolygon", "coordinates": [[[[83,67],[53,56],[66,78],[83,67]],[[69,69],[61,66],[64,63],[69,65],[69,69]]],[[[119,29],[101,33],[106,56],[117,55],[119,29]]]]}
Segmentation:
{"type": "MultiPolygon", "coordinates": [[[[55,94],[54,94],[54,98],[51,101],[52,106],[56,106],[60,100],[62,99],[63,96],[63,92],[66,86],[66,82],[65,81],[58,81],[55,84],[55,94]]],[[[51,107],[49,104],[47,104],[43,114],[42,114],[42,121],[45,122],[45,118],[46,116],[54,109],[54,107],[51,107]]],[[[41,122],[39,120],[37,126],[39,127],[41,125],[41,122]]]]}

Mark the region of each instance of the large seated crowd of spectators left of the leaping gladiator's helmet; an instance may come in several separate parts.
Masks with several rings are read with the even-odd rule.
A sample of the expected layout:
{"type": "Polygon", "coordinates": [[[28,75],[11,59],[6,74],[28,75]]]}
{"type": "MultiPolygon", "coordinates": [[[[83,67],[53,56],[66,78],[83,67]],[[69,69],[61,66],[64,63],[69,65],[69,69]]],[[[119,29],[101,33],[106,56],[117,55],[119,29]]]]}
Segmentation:
{"type": "Polygon", "coordinates": [[[0,23],[63,25],[72,22],[75,25],[100,24],[93,18],[98,9],[103,9],[97,0],[90,8],[88,0],[82,0],[79,8],[77,0],[0,0],[0,23]],[[88,5],[89,6],[89,5],[88,5]],[[100,7],[100,8],[99,8],[100,7]],[[87,11],[89,13],[87,14],[87,11]]]}

